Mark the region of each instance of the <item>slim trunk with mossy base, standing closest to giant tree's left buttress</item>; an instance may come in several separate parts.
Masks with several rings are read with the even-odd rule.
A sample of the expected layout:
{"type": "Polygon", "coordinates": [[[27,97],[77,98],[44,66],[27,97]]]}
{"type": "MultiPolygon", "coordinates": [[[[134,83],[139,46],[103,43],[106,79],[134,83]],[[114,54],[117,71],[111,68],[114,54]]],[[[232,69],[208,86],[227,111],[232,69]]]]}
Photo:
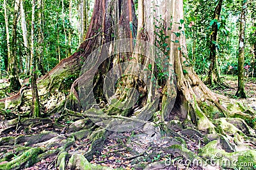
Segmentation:
{"type": "Polygon", "coordinates": [[[31,19],[31,60],[32,60],[32,69],[31,69],[31,91],[32,91],[32,105],[31,105],[31,116],[39,117],[40,116],[40,103],[39,96],[36,85],[36,57],[34,56],[34,31],[35,31],[35,0],[32,3],[32,19],[31,19]]]}

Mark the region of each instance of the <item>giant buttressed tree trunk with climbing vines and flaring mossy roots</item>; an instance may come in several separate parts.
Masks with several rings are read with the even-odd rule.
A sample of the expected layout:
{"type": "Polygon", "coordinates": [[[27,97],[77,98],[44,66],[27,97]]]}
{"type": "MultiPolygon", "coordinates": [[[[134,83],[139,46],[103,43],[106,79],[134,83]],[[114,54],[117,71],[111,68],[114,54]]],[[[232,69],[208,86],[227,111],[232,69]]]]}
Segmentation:
{"type": "MultiPolygon", "coordinates": [[[[156,140],[170,139],[172,141],[170,141],[170,145],[164,148],[164,151],[172,155],[182,155],[188,160],[197,160],[201,157],[209,160],[209,157],[215,158],[216,153],[221,153],[223,157],[232,161],[244,160],[244,153],[248,153],[250,156],[252,155],[250,158],[253,161],[256,160],[255,151],[248,151],[247,149],[250,149],[250,146],[244,144],[255,143],[255,139],[248,137],[249,135],[255,135],[251,128],[255,128],[255,122],[252,121],[251,127],[248,127],[244,121],[245,119],[253,120],[255,118],[252,110],[244,107],[236,100],[228,100],[221,95],[212,93],[199,79],[187,61],[183,1],[139,0],[138,3],[138,6],[140,6],[138,15],[141,18],[138,20],[139,31],[136,35],[137,23],[132,1],[95,0],[92,22],[86,40],[81,44],[79,50],[69,58],[61,60],[49,73],[38,79],[38,92],[45,109],[54,112],[54,116],[61,113],[61,116],[57,119],[66,115],[71,116],[71,118],[74,118],[73,116],[83,118],[83,120],[72,123],[68,130],[65,130],[66,127],[63,128],[63,132],[68,132],[67,140],[61,139],[60,143],[67,142],[67,144],[65,143],[65,147],[61,147],[61,150],[56,150],[57,153],[61,151],[58,154],[58,160],[63,162],[61,167],[65,169],[65,160],[80,151],[78,149],[76,151],[68,150],[72,146],[72,141],[74,141],[74,146],[77,146],[76,141],[80,142],[79,138],[84,138],[84,132],[86,132],[85,136],[88,137],[87,139],[91,144],[89,150],[96,148],[93,151],[88,151],[90,155],[87,154],[88,152],[84,154],[84,157],[90,161],[96,151],[100,152],[98,146],[103,145],[106,139],[105,130],[95,130],[98,126],[120,132],[131,130],[145,123],[147,123],[143,127],[143,133],[145,132],[145,134],[135,134],[136,143],[137,137],[141,142],[147,141],[145,136],[152,139],[150,143],[156,140]],[[134,38],[136,36],[138,40],[135,42],[134,38]],[[113,40],[116,41],[113,42],[113,40]],[[152,58],[147,55],[151,55],[152,58]],[[164,67],[164,65],[166,66],[164,67]],[[113,79],[111,79],[111,75],[114,75],[113,79]],[[111,84],[106,83],[109,81],[109,77],[110,82],[114,82],[113,86],[110,87],[108,85],[111,84]],[[67,82],[71,80],[73,84],[68,84],[67,82]],[[66,96],[65,92],[67,91],[65,90],[70,86],[70,93],[66,96]],[[84,94],[86,88],[88,93],[84,94]],[[106,95],[104,91],[107,88],[113,90],[110,95],[108,93],[106,95]],[[137,89],[139,95],[136,96],[136,91],[132,91],[132,88],[137,89]],[[176,89],[177,91],[175,91],[176,89]],[[115,95],[116,98],[112,98],[115,95]],[[177,98],[175,99],[176,95],[177,98]],[[138,100],[134,100],[134,98],[138,100]],[[92,103],[86,104],[86,102],[92,103]],[[135,102],[135,104],[132,102],[135,102]],[[83,106],[84,111],[82,111],[81,106],[83,106]],[[61,112],[63,107],[65,112],[61,112]],[[138,115],[133,114],[133,111],[138,115]],[[158,114],[161,114],[160,121],[155,121],[148,112],[153,112],[157,117],[158,114]],[[218,118],[211,118],[213,113],[218,113],[222,117],[219,115],[218,118]],[[96,125],[93,125],[93,127],[90,123],[88,125],[87,117],[93,120],[96,125]],[[170,122],[166,122],[169,120],[170,122]],[[154,121],[156,124],[150,121],[154,121]],[[81,122],[86,124],[86,127],[79,128],[81,122]],[[72,128],[76,123],[77,128],[72,128]],[[106,124],[104,125],[104,123],[106,124]],[[157,128],[152,124],[157,125],[157,128]],[[174,132],[172,126],[176,125],[180,129],[186,128],[185,130],[178,130],[183,134],[174,132]],[[154,129],[153,131],[157,129],[160,132],[166,132],[166,136],[162,138],[163,135],[160,132],[159,135],[157,132],[148,133],[148,131],[152,131],[151,129],[148,130],[148,127],[154,129]],[[195,130],[195,128],[203,133],[195,130]],[[72,133],[76,132],[77,129],[79,129],[78,134],[72,133]],[[95,132],[88,135],[87,133],[90,130],[95,130],[95,132]],[[79,137],[80,134],[83,137],[79,137]],[[176,139],[177,141],[175,141],[176,139]],[[193,140],[198,141],[196,144],[199,146],[201,142],[207,145],[196,150],[198,151],[198,155],[196,155],[197,153],[195,154],[189,150],[189,147],[187,148],[184,140],[189,144],[193,140]],[[96,143],[95,141],[100,142],[96,143]],[[233,141],[237,147],[230,144],[233,141]],[[240,149],[244,150],[244,148],[247,151],[239,151],[240,149]],[[65,155],[65,151],[71,155],[65,155]]],[[[20,92],[20,96],[24,96],[23,99],[26,102],[31,99],[30,90],[20,92]]],[[[19,95],[0,100],[0,105],[3,105],[4,102],[4,106],[8,108],[10,106],[9,102],[13,102],[17,98],[19,98],[19,95]]],[[[20,105],[22,105],[22,101],[20,105]]],[[[70,117],[68,119],[70,120],[70,117]]],[[[116,134],[122,135],[121,133],[116,134]]],[[[64,136],[66,137],[66,134],[64,136]]],[[[129,137],[129,139],[131,138],[129,137]]],[[[49,143],[46,143],[49,146],[49,143]]],[[[83,144],[88,143],[86,141],[83,144]]],[[[131,145],[129,144],[128,148],[132,147],[131,145]]],[[[157,151],[162,149],[162,146],[159,145],[157,144],[157,151]]],[[[150,146],[145,147],[145,154],[150,153],[151,155],[151,151],[150,146]]],[[[144,155],[143,153],[136,155],[136,158],[138,156],[146,158],[150,155],[144,155]]],[[[73,156],[69,162],[74,162],[74,164],[79,164],[85,159],[78,160],[77,157],[73,156]],[[71,161],[72,159],[73,161],[71,161]]],[[[200,166],[205,167],[206,164],[200,166]]],[[[216,167],[213,169],[216,169],[216,167]]]]}

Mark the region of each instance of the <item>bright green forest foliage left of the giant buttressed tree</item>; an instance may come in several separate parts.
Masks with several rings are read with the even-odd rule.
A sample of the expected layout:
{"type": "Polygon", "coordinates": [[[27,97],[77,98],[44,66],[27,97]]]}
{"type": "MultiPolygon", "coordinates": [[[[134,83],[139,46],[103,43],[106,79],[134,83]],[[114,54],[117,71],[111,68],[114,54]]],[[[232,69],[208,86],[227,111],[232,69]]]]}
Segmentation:
{"type": "MultiPolygon", "coordinates": [[[[6,24],[4,24],[4,10],[7,12],[8,31],[12,38],[12,22],[14,1],[1,1],[1,70],[8,70],[6,24]],[[6,1],[6,8],[3,2],[6,1]]],[[[49,72],[61,59],[67,58],[77,50],[83,40],[81,29],[88,27],[92,15],[92,1],[36,1],[35,8],[35,49],[39,65],[38,76],[49,72]],[[84,6],[84,7],[83,7],[84,6]],[[46,10],[47,9],[47,10],[46,10]],[[91,10],[88,10],[91,9],[91,10]],[[86,17],[86,15],[88,15],[86,17]],[[72,35],[72,36],[70,36],[72,35]],[[42,67],[43,66],[43,67],[42,67]]],[[[31,1],[21,1],[17,22],[17,66],[21,78],[29,75],[29,61],[31,43],[31,1]],[[27,74],[24,74],[26,72],[27,74]]],[[[9,38],[9,39],[10,39],[9,38]]]]}

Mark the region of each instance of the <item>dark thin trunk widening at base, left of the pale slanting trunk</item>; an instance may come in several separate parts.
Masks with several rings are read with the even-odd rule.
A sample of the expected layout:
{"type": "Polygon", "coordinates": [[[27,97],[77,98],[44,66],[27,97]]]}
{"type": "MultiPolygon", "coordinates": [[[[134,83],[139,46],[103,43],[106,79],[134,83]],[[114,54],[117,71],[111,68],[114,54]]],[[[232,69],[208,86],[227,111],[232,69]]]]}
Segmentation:
{"type": "Polygon", "coordinates": [[[13,29],[12,29],[12,43],[10,56],[10,88],[13,90],[20,89],[18,67],[17,67],[17,20],[20,7],[20,0],[15,1],[13,12],[13,29]]]}

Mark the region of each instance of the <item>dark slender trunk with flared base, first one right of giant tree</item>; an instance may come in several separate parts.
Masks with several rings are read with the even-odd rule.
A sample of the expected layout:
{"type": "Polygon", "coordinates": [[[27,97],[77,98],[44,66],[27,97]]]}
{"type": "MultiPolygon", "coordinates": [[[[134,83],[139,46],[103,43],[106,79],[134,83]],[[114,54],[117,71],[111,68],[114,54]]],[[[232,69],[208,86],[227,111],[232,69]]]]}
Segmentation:
{"type": "Polygon", "coordinates": [[[214,24],[212,24],[212,33],[211,33],[211,52],[210,52],[210,60],[211,65],[208,72],[207,80],[205,81],[205,84],[209,84],[211,86],[214,86],[214,84],[221,85],[221,79],[220,79],[220,72],[218,71],[218,56],[216,56],[216,44],[217,44],[217,36],[218,36],[218,22],[220,18],[221,13],[221,6],[222,1],[219,0],[218,5],[216,6],[214,10],[214,24]]]}

